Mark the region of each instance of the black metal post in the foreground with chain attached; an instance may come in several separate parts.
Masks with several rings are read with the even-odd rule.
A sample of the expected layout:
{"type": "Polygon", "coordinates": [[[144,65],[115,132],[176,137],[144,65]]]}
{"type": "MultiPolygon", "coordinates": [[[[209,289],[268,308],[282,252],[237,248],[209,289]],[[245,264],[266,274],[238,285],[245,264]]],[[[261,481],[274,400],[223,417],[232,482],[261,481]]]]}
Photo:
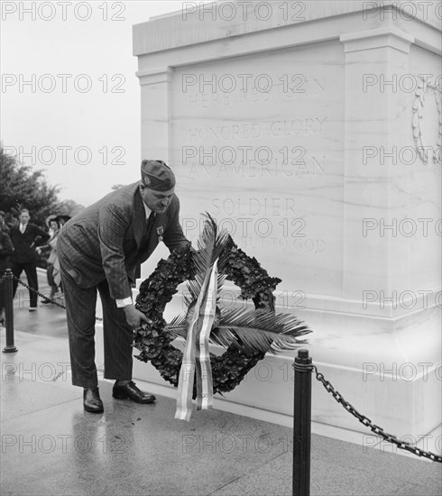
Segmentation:
{"type": "Polygon", "coordinates": [[[311,358],[301,349],[293,364],[295,394],[293,405],[293,496],[310,494],[311,358]]]}

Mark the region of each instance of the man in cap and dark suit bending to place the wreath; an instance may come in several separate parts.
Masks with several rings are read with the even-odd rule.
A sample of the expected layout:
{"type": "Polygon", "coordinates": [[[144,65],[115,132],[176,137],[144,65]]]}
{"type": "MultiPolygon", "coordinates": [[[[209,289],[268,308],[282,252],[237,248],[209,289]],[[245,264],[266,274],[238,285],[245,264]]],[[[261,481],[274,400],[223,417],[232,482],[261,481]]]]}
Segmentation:
{"type": "Polygon", "coordinates": [[[132,381],[134,328],[147,317],[132,301],[134,271],[161,241],[189,244],[180,221],[175,176],[162,161],[143,161],[142,180],[119,188],[63,225],[57,243],[69,330],[72,383],[84,388],[84,409],[103,411],[95,364],[97,291],[103,306],[105,379],[113,396],[155,400],[132,381]]]}

